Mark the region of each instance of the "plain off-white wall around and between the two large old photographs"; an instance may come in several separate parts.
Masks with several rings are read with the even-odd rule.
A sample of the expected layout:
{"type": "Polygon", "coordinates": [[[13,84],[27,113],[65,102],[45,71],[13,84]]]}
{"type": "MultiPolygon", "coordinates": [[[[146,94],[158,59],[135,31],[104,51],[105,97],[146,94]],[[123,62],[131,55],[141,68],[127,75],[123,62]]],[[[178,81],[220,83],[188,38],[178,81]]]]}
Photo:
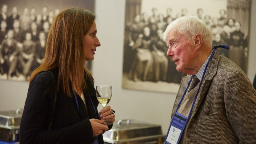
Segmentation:
{"type": "MultiPolygon", "coordinates": [[[[116,120],[137,119],[162,125],[167,133],[175,94],[122,89],[125,0],[96,0],[97,29],[101,46],[92,65],[96,85],[112,85],[109,103],[116,111],[116,120]]],[[[256,1],[252,1],[248,77],[256,73],[256,1]]],[[[28,82],[0,81],[0,111],[24,107],[28,82]]],[[[101,106],[98,107],[101,109],[101,106]]]]}

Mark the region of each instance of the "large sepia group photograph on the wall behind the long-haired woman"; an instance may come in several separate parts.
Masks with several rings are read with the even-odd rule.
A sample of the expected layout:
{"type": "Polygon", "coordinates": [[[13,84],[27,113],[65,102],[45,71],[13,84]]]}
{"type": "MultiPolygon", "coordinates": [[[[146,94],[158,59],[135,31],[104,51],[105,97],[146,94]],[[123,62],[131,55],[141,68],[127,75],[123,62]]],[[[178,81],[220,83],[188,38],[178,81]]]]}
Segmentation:
{"type": "MultiPolygon", "coordinates": [[[[70,7],[94,13],[94,0],[0,1],[0,80],[29,80],[43,62],[54,17],[70,7]]],[[[85,65],[90,69],[90,62],[85,65]]]]}

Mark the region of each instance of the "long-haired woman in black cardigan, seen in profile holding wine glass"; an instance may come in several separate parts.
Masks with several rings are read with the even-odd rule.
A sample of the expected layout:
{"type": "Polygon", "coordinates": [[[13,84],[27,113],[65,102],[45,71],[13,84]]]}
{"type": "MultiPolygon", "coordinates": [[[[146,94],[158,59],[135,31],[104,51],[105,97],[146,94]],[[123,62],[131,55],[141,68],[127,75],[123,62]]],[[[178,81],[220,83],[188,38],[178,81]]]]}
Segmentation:
{"type": "Polygon", "coordinates": [[[54,19],[44,61],[31,74],[20,124],[21,144],[104,143],[102,133],[112,124],[102,123],[104,119],[113,123],[114,111],[107,106],[98,113],[94,79],[84,67],[100,46],[94,20],[94,14],[82,9],[63,10],[54,19]],[[44,70],[54,74],[55,82],[44,70]]]}

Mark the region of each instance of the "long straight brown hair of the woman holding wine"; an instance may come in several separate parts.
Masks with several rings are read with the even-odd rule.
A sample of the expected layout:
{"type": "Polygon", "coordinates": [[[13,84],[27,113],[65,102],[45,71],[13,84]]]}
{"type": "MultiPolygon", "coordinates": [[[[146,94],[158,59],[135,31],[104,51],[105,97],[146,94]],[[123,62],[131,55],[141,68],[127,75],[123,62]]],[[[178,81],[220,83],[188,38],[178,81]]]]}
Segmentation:
{"type": "Polygon", "coordinates": [[[43,70],[53,70],[58,67],[57,89],[60,83],[68,96],[72,96],[69,89],[69,72],[72,81],[79,89],[86,89],[84,71],[92,81],[92,75],[84,67],[85,50],[84,36],[93,25],[95,15],[88,10],[69,8],[61,11],[54,19],[46,43],[44,62],[31,74],[30,82],[36,74],[43,70]]]}

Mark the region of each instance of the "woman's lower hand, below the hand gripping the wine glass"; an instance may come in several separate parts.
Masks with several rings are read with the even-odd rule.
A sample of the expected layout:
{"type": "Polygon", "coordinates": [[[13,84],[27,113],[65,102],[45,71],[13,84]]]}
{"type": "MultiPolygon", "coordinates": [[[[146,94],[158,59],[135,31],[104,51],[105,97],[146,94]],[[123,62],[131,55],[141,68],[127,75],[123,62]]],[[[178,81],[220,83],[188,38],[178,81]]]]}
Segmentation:
{"type": "Polygon", "coordinates": [[[108,126],[107,125],[102,125],[104,120],[99,120],[99,119],[90,119],[91,125],[92,125],[92,131],[93,131],[93,137],[102,134],[103,130],[107,131],[108,126]]]}

